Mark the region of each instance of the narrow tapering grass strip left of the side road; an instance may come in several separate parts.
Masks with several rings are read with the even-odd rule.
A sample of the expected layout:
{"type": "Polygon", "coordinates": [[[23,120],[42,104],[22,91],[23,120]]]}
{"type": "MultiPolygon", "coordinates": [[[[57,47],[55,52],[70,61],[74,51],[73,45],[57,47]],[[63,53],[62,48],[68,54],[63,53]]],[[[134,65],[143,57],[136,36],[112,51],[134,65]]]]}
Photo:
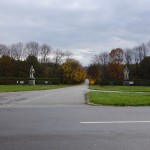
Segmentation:
{"type": "Polygon", "coordinates": [[[0,92],[50,90],[63,87],[68,85],[0,85],[0,92]]]}

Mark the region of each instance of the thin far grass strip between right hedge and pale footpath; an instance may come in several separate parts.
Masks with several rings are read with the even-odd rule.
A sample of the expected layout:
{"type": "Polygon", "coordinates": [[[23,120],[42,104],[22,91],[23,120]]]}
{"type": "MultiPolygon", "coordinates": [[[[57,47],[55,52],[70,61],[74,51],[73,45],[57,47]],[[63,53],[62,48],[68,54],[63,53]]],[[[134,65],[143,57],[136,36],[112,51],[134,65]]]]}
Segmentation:
{"type": "Polygon", "coordinates": [[[150,86],[90,86],[92,90],[124,91],[124,92],[150,92],[150,86]]]}

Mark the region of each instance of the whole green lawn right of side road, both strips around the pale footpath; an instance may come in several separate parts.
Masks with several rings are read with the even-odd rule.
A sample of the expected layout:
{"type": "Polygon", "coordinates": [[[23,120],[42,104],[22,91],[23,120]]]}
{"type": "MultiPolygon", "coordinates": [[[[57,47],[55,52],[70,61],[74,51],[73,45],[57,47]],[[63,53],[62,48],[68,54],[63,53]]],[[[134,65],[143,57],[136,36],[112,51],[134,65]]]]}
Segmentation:
{"type": "Polygon", "coordinates": [[[93,88],[103,91],[91,91],[88,93],[89,102],[92,104],[113,106],[150,106],[150,87],[94,86],[93,88]]]}

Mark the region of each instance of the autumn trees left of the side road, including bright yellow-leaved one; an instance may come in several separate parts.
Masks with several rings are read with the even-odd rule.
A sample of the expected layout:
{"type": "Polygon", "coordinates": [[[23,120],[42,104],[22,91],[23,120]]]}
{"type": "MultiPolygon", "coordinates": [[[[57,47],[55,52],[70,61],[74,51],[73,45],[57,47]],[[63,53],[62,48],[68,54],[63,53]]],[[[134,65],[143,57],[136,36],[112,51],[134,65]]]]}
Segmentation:
{"type": "Polygon", "coordinates": [[[0,77],[28,78],[31,65],[36,78],[59,78],[65,84],[81,83],[85,79],[82,65],[68,51],[54,50],[37,42],[0,44],[0,77]]]}

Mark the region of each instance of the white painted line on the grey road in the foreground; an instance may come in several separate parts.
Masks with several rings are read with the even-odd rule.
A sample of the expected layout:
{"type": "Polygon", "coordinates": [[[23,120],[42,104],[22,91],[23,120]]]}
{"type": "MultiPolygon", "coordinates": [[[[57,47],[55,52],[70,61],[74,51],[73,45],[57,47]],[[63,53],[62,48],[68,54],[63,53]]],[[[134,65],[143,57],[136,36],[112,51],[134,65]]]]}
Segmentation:
{"type": "Polygon", "coordinates": [[[150,123],[150,121],[102,121],[102,122],[80,122],[81,124],[136,124],[150,123]]]}

